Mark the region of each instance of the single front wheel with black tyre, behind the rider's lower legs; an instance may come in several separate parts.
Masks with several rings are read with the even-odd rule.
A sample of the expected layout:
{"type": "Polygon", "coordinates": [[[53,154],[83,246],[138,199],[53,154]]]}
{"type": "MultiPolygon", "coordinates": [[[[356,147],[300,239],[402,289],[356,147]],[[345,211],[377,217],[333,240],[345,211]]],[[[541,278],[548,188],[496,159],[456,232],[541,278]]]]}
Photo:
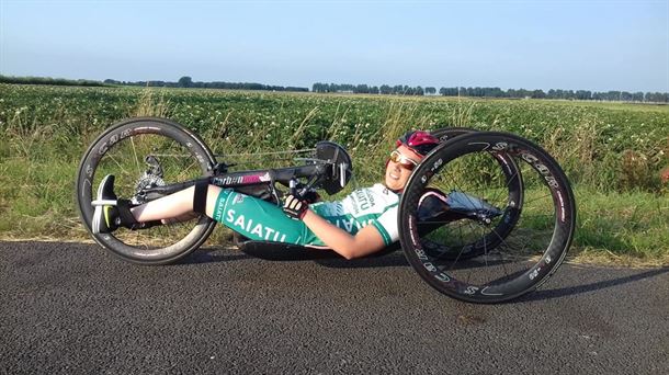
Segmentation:
{"type": "MultiPolygon", "coordinates": [[[[165,156],[168,161],[174,159],[173,162],[167,163],[166,171],[169,170],[180,179],[183,177],[183,180],[188,180],[188,177],[209,175],[215,166],[214,155],[208,147],[184,126],[157,117],[125,120],[104,130],[83,155],[76,181],[77,209],[83,226],[95,242],[114,255],[145,265],[172,263],[197,249],[208,238],[216,223],[205,215],[200,215],[185,224],[165,225],[151,229],[129,231],[120,228],[112,234],[99,235],[91,231],[93,215],[91,201],[94,198],[93,189],[98,186],[95,181],[101,180],[103,174],[109,172],[122,173],[122,177],[116,175],[117,183],[124,181],[125,186],[133,186],[131,183],[136,183],[140,179],[139,158],[143,150],[149,154],[166,150],[179,152],[165,156]],[[124,159],[126,157],[127,160],[124,159]],[[132,166],[133,161],[136,166],[132,166]]],[[[122,188],[122,190],[127,193],[132,188],[122,188]]],[[[118,194],[118,191],[116,193],[118,194]]]]}

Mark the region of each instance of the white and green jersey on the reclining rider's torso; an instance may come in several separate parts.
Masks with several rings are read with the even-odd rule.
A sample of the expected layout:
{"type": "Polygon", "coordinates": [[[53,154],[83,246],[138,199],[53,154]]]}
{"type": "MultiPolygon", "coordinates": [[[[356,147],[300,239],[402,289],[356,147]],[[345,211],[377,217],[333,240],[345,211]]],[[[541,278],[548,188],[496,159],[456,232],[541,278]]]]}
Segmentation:
{"type": "Polygon", "coordinates": [[[373,225],[387,246],[399,239],[398,204],[399,195],[377,183],[372,188],[358,189],[341,201],[318,202],[309,207],[352,235],[366,225],[373,225]]]}

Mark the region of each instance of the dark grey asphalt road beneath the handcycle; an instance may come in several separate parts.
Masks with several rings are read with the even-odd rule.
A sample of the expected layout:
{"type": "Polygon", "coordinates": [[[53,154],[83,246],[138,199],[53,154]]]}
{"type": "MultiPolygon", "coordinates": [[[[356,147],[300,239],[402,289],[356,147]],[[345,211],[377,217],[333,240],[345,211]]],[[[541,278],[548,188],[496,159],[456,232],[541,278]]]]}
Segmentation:
{"type": "Polygon", "coordinates": [[[564,264],[487,306],[433,291],[399,251],[254,255],[138,266],[0,242],[0,373],[669,373],[669,269],[564,264]]]}

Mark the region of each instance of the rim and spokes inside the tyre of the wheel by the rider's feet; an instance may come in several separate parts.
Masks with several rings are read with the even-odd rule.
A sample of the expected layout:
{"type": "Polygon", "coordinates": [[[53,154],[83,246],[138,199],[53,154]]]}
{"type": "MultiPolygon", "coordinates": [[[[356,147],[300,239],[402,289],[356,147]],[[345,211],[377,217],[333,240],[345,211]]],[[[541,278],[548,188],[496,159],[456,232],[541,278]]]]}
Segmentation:
{"type": "MultiPolygon", "coordinates": [[[[162,124],[138,122],[116,127],[101,136],[82,162],[79,177],[79,206],[89,226],[93,207],[91,201],[100,181],[114,174],[114,192],[121,198],[135,196],[140,183],[182,182],[202,177],[211,168],[211,156],[190,134],[162,124]],[[149,125],[149,126],[147,126],[149,125]],[[179,139],[179,140],[178,140],[179,139]],[[145,175],[147,156],[158,160],[163,171],[161,179],[145,175]]],[[[156,226],[143,230],[118,228],[113,234],[94,235],[97,241],[122,257],[146,261],[163,260],[182,253],[184,246],[196,242],[211,224],[206,216],[156,226]]]]}

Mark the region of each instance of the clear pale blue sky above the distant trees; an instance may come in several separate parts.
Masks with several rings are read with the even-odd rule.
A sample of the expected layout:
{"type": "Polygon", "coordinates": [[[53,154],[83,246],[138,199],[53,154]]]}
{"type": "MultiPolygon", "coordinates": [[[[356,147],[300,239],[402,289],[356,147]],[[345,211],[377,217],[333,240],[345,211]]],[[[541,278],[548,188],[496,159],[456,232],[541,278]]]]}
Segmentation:
{"type": "Polygon", "coordinates": [[[669,92],[669,0],[0,0],[0,73],[669,92]]]}

